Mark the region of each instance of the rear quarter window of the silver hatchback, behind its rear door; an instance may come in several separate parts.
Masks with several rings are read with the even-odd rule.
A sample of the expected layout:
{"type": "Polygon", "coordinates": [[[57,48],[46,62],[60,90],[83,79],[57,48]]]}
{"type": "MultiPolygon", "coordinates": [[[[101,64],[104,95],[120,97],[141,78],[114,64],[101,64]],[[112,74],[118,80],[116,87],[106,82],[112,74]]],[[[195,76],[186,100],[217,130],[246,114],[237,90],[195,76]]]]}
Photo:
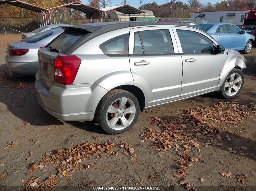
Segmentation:
{"type": "Polygon", "coordinates": [[[128,56],[129,34],[114,37],[100,45],[106,55],[128,56]]]}

